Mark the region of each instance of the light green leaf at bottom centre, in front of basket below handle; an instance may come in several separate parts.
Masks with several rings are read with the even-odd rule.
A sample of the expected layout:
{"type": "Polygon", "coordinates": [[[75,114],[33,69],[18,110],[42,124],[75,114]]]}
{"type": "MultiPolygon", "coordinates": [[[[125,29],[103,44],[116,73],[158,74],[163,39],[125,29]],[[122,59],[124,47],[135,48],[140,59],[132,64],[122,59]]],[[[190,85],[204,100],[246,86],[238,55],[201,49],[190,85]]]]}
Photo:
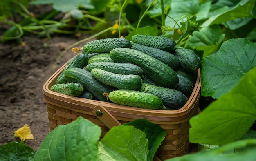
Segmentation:
{"type": "Polygon", "coordinates": [[[146,161],[148,139],[133,126],[111,128],[99,142],[99,161],[146,161]]]}

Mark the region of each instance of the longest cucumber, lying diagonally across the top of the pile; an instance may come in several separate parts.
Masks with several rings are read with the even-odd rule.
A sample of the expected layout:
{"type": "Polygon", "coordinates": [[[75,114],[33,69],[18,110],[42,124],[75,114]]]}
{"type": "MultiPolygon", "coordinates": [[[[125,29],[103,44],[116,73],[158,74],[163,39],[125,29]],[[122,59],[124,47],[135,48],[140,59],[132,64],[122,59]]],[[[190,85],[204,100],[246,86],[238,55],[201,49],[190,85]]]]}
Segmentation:
{"type": "Polygon", "coordinates": [[[141,51],[116,48],[110,51],[110,58],[114,62],[132,63],[141,67],[144,74],[161,87],[175,88],[179,83],[179,78],[171,67],[141,51]]]}

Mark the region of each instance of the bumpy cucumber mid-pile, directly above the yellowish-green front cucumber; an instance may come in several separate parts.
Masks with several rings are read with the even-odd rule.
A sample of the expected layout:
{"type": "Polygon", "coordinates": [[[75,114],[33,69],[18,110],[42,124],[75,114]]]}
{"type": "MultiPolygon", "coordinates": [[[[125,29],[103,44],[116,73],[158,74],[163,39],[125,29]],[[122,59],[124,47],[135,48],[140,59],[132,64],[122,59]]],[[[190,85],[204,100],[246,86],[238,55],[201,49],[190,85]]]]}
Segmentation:
{"type": "Polygon", "coordinates": [[[117,89],[137,90],[142,84],[141,77],[134,74],[116,74],[97,68],[92,69],[91,73],[100,82],[117,89]]]}

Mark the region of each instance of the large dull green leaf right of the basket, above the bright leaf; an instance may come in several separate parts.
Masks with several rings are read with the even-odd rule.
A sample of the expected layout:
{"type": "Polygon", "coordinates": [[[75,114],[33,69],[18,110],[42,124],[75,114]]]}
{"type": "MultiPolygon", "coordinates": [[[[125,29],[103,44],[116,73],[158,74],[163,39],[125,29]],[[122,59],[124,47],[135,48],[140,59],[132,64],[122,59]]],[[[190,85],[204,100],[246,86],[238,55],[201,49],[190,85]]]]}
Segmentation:
{"type": "Polygon", "coordinates": [[[202,96],[219,98],[256,66],[256,43],[245,38],[230,39],[220,50],[202,58],[202,96]]]}

